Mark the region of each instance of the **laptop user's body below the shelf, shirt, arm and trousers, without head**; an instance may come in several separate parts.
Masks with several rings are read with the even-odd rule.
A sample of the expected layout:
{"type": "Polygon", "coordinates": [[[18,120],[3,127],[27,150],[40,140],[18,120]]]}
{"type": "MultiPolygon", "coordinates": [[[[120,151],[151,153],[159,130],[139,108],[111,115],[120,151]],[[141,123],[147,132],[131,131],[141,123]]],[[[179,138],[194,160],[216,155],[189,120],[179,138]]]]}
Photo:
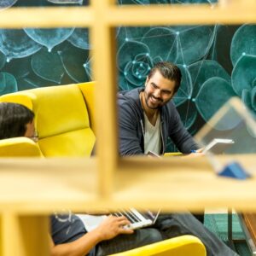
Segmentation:
{"type": "Polygon", "coordinates": [[[205,245],[207,256],[238,256],[189,212],[162,214],[153,226],[138,230],[127,229],[125,217],[109,215],[90,232],[78,216],[61,217],[65,221],[51,217],[52,256],[106,256],[183,235],[197,236],[205,245]]]}

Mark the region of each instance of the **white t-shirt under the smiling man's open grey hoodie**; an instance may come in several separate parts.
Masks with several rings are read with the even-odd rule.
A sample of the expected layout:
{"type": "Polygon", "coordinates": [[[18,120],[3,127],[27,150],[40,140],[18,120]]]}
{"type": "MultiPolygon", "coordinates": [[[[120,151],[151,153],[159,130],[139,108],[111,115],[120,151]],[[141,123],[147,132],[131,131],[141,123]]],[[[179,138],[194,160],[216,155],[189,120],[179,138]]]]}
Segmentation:
{"type": "Polygon", "coordinates": [[[148,117],[145,113],[144,113],[144,120],[145,120],[144,154],[148,154],[148,151],[154,152],[154,154],[160,154],[160,149],[161,149],[160,114],[158,114],[155,125],[152,125],[148,121],[148,117]]]}

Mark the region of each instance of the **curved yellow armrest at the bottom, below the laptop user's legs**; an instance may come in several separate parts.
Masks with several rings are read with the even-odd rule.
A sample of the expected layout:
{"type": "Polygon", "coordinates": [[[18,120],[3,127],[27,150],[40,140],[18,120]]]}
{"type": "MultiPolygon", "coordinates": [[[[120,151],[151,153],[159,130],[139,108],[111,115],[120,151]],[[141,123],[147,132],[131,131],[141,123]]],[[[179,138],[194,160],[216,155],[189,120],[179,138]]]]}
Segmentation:
{"type": "Polygon", "coordinates": [[[111,256],[206,256],[206,248],[195,236],[178,236],[111,256]]]}

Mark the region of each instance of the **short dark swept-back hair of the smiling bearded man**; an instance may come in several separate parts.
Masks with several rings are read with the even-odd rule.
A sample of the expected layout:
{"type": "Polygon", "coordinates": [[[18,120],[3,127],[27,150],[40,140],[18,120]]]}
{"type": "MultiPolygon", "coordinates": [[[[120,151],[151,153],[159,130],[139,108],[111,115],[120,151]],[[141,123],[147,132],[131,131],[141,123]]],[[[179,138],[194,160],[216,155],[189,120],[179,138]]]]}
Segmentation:
{"type": "Polygon", "coordinates": [[[165,79],[175,81],[174,92],[177,92],[180,86],[180,81],[182,79],[180,69],[171,62],[160,61],[151,68],[150,72],[148,73],[148,79],[150,79],[157,70],[165,79]]]}

